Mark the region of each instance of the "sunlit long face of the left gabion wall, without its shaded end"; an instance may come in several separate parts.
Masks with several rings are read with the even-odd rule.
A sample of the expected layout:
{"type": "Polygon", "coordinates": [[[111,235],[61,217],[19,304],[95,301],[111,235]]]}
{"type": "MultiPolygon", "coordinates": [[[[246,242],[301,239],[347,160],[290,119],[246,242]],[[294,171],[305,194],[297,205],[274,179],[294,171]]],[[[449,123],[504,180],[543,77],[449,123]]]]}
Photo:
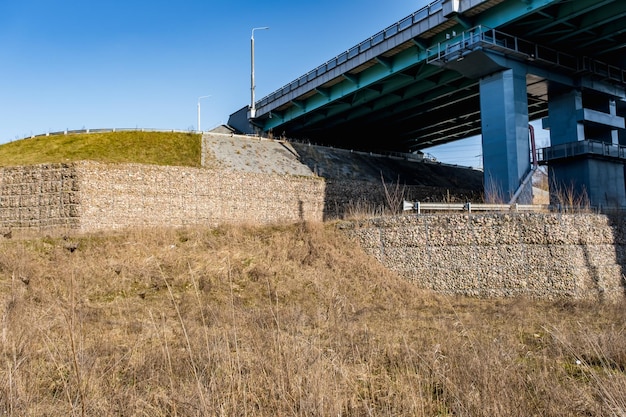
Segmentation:
{"type": "Polygon", "coordinates": [[[83,230],[322,221],[324,181],[218,169],[80,163],[83,230]]]}

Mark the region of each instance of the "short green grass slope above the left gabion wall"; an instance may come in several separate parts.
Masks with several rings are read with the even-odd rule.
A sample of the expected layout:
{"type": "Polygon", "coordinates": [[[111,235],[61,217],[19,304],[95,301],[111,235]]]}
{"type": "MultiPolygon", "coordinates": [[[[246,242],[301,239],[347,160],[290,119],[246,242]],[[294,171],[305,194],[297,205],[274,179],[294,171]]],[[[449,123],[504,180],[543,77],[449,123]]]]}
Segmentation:
{"type": "Polygon", "coordinates": [[[201,135],[124,131],[42,136],[0,146],[0,166],[98,161],[171,166],[201,165],[201,135]]]}

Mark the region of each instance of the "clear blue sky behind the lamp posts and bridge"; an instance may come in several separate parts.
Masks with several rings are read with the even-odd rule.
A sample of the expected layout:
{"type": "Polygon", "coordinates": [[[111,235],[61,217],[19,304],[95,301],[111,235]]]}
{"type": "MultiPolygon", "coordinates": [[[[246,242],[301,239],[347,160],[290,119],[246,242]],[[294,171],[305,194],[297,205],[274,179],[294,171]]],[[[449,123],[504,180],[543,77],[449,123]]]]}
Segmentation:
{"type": "Polygon", "coordinates": [[[428,3],[0,0],[0,143],[65,129],[193,130],[205,95],[209,129],[250,100],[252,28],[270,27],[255,32],[259,99],[428,3]]]}

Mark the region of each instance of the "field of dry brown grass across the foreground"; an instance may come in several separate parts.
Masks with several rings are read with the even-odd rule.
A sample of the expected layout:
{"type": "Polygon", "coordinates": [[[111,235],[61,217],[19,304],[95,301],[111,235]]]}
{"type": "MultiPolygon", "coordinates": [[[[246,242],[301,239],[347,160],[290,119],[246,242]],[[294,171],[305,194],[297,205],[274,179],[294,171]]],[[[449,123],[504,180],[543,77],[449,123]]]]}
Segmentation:
{"type": "Polygon", "coordinates": [[[436,295],[332,224],[0,237],[0,416],[624,416],[626,305],[436,295]]]}

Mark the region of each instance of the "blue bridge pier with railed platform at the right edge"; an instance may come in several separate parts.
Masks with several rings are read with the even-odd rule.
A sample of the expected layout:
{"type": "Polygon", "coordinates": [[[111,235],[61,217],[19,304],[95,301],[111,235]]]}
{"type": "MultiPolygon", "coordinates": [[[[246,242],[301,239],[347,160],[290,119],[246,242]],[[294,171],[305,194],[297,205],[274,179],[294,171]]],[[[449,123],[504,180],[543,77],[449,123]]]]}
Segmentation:
{"type": "MultiPolygon", "coordinates": [[[[584,83],[584,82],[583,82],[584,83]]],[[[605,89],[606,90],[606,89],[605,89]]],[[[608,91],[553,84],[548,96],[550,198],[554,204],[626,207],[624,118],[608,91]]]]}

